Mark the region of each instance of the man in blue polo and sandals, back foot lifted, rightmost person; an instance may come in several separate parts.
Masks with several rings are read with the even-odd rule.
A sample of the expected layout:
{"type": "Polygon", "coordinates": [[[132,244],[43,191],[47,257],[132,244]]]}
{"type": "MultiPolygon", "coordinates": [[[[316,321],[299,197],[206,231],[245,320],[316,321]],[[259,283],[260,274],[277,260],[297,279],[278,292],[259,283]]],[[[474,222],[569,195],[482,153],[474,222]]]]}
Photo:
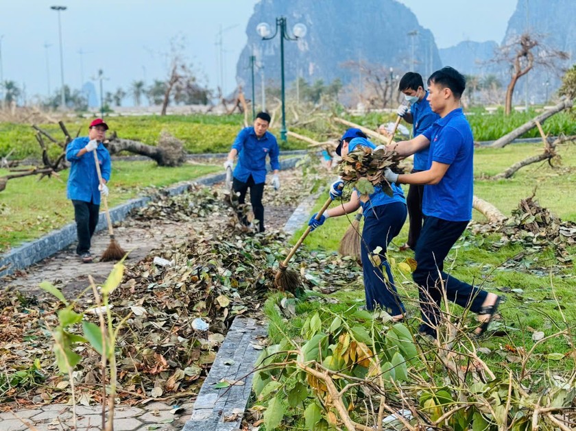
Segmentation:
{"type": "Polygon", "coordinates": [[[416,243],[414,257],[418,266],[412,277],[420,291],[420,333],[434,338],[444,293],[448,300],[478,314],[477,336],[488,328],[501,301],[494,293],[444,272],[444,259],[472,218],[474,140],[460,106],[465,88],[464,76],[450,66],[429,77],[428,101],[440,119],[415,138],[389,146],[400,156],[429,147],[428,168],[400,175],[385,171],[389,182],[424,185],[424,226],[416,243]]]}

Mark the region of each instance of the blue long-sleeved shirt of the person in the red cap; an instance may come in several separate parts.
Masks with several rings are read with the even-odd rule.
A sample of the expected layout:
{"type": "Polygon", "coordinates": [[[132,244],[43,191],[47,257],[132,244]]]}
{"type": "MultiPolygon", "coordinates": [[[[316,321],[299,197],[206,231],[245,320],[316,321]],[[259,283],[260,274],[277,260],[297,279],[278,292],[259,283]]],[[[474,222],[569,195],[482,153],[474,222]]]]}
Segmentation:
{"type": "MultiPolygon", "coordinates": [[[[66,160],[71,162],[68,176],[67,197],[77,201],[92,202],[100,204],[100,190],[98,190],[99,180],[96,171],[96,164],[92,151],[77,157],[76,154],[86,147],[90,138],[82,136],[75,138],[66,148],[66,160]]],[[[110,153],[104,145],[99,144],[95,149],[100,164],[102,178],[108,182],[110,180],[110,153]]]]}

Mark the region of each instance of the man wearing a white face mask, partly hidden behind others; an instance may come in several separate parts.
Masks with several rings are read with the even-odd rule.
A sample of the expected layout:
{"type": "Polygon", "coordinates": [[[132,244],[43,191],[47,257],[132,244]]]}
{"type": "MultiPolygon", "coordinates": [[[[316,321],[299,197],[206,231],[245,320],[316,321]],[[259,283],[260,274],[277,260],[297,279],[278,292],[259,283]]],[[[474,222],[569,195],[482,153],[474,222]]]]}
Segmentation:
{"type": "MultiPolygon", "coordinates": [[[[410,103],[410,110],[408,106],[402,104],[398,106],[398,116],[402,117],[404,121],[412,125],[412,137],[422,134],[424,130],[440,118],[438,114],[433,112],[428,103],[428,92],[424,90],[424,82],[420,73],[408,72],[401,79],[398,84],[398,90],[404,94],[405,100],[410,103]]],[[[422,172],[428,169],[428,147],[420,149],[414,153],[414,165],[411,173],[422,172]]],[[[408,206],[408,217],[410,220],[408,230],[408,240],[405,245],[400,247],[400,250],[414,249],[420,231],[422,230],[422,198],[424,197],[424,186],[420,184],[410,184],[408,195],[406,197],[406,204],[408,206]]]]}

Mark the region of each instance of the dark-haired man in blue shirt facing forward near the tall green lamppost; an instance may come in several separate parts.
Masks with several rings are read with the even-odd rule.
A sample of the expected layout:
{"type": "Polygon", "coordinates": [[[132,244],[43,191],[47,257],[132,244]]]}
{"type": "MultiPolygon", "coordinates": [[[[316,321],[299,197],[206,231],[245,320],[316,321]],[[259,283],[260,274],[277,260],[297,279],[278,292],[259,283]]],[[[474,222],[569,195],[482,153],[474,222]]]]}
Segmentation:
{"type": "MultiPolygon", "coordinates": [[[[238,156],[232,179],[232,190],[239,193],[239,204],[244,204],[246,192],[250,188],[250,204],[252,204],[254,219],[259,223],[259,232],[264,232],[262,195],[266,180],[266,156],[269,157],[270,167],[272,167],[272,186],[275,190],[280,188],[278,177],[280,149],[276,136],[267,131],[269,124],[270,115],[267,112],[259,112],[254,120],[254,126],[245,127],[240,131],[228,153],[228,159],[224,162],[224,169],[231,169],[234,158],[238,156]]],[[[250,224],[241,212],[239,212],[239,217],[243,224],[250,224]]]]}

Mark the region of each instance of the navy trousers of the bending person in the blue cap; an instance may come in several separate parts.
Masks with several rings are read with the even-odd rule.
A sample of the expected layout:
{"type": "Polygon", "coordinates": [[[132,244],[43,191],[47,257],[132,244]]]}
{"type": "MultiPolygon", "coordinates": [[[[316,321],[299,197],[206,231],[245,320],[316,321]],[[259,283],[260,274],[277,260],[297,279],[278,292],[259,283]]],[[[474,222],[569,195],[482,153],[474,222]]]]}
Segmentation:
{"type": "Polygon", "coordinates": [[[364,213],[360,248],[367,310],[374,310],[374,307],[378,305],[392,316],[405,312],[385,254],[390,241],[400,233],[406,221],[406,215],[406,205],[402,202],[376,206],[364,213]],[[374,267],[369,256],[379,246],[382,247],[378,254],[382,264],[374,267]],[[387,279],[383,275],[382,267],[386,269],[387,279]]]}

